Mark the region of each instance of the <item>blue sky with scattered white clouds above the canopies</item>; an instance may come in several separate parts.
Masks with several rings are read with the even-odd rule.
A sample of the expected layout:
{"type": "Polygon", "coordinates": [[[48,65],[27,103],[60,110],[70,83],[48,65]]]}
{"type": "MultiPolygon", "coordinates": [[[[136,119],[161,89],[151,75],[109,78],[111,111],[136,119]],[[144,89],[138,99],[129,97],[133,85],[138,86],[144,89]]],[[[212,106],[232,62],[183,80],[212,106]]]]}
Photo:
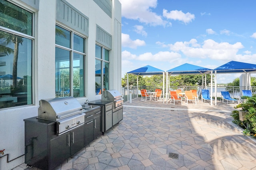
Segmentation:
{"type": "MultiPolygon", "coordinates": [[[[151,65],[256,64],[255,0],[120,0],[122,77],[151,65]]],[[[218,74],[218,83],[241,74],[218,74]]],[[[256,76],[252,74],[251,76],[256,76]]]]}

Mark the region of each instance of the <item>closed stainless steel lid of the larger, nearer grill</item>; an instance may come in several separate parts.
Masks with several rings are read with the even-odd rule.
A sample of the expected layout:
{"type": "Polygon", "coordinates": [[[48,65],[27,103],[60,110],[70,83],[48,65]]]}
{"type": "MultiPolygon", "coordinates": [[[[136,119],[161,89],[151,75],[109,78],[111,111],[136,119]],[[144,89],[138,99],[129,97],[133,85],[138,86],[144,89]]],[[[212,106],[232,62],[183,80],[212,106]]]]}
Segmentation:
{"type": "Polygon", "coordinates": [[[38,117],[56,121],[81,111],[81,104],[72,96],[50,98],[39,101],[38,117]]]}

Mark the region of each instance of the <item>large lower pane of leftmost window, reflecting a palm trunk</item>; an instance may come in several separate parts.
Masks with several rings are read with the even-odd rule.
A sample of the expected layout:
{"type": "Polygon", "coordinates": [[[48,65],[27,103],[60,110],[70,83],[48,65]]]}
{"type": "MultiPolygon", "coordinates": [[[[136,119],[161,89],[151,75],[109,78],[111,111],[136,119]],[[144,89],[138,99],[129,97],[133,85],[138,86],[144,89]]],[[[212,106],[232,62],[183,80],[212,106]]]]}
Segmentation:
{"type": "Polygon", "coordinates": [[[27,104],[32,104],[32,40],[0,31],[0,108],[27,104]]]}

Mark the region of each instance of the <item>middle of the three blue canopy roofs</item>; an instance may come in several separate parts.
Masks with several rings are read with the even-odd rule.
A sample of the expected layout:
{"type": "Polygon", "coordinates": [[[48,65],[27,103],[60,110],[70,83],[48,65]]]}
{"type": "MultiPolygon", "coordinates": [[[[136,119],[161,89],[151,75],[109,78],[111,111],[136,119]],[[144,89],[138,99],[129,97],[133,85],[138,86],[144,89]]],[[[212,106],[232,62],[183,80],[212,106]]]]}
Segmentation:
{"type": "Polygon", "coordinates": [[[168,74],[207,74],[211,69],[185,63],[166,72],[168,74]]]}

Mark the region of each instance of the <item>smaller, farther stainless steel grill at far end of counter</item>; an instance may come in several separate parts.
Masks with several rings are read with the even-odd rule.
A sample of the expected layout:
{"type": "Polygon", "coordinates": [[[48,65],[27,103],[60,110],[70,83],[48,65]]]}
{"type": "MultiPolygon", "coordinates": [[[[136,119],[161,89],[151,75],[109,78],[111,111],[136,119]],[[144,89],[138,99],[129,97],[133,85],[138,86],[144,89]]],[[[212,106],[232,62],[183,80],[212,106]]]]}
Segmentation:
{"type": "Polygon", "coordinates": [[[114,102],[114,108],[122,106],[124,102],[122,94],[117,90],[104,90],[102,92],[101,100],[114,102]]]}

